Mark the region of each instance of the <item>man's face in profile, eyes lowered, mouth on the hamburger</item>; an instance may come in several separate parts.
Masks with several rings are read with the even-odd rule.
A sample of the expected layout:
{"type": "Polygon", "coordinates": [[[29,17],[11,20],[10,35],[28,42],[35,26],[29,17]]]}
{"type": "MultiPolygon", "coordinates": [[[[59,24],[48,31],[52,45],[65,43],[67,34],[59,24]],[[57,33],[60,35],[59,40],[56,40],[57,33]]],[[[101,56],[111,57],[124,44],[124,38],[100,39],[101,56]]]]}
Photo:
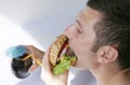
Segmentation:
{"type": "Polygon", "coordinates": [[[78,61],[76,67],[89,69],[96,60],[96,54],[91,52],[94,44],[94,25],[101,19],[101,14],[90,8],[80,12],[76,22],[69,26],[64,34],[68,37],[68,44],[74,49],[78,61]]]}

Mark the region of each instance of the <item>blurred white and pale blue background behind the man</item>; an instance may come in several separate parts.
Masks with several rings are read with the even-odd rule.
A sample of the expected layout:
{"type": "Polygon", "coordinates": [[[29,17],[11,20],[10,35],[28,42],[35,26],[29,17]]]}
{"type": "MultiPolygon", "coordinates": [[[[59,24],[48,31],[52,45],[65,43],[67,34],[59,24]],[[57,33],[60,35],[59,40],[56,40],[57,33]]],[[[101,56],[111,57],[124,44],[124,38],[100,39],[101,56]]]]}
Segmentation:
{"type": "Polygon", "coordinates": [[[73,24],[86,3],[87,0],[0,0],[0,84],[44,85],[40,68],[25,80],[16,79],[4,53],[20,44],[46,51],[73,24]]]}

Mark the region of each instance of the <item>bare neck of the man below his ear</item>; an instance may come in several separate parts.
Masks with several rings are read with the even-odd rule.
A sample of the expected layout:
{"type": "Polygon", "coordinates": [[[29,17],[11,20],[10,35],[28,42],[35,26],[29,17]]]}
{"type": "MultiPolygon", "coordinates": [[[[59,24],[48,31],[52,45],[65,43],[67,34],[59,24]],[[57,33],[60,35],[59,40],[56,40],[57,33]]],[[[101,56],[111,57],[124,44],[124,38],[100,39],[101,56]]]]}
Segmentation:
{"type": "Polygon", "coordinates": [[[100,68],[96,68],[96,70],[91,70],[92,74],[96,79],[98,85],[118,85],[117,82],[122,81],[126,70],[120,70],[115,66],[101,66],[100,68]]]}

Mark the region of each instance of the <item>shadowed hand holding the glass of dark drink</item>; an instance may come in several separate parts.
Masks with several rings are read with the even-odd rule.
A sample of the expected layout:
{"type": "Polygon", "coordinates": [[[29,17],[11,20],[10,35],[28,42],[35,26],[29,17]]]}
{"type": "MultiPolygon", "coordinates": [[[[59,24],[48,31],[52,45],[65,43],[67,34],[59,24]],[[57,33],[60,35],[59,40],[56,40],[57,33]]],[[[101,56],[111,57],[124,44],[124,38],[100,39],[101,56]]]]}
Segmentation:
{"type": "MultiPolygon", "coordinates": [[[[44,55],[44,52],[36,48],[32,45],[25,45],[25,47],[27,48],[27,53],[30,54],[35,59],[37,59],[38,61],[42,62],[42,58],[44,55]]],[[[35,60],[34,60],[35,61],[35,60]]],[[[32,66],[29,68],[28,72],[32,72],[35,71],[37,68],[39,67],[39,65],[35,61],[32,63],[32,66]]]]}

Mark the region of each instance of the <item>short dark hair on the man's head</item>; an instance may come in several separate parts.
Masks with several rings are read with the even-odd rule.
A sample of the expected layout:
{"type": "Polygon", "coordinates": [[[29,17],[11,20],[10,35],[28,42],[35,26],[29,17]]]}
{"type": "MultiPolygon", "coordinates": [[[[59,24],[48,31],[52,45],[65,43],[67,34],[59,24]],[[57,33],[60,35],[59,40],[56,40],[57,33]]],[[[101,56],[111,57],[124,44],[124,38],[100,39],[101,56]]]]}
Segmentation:
{"type": "Polygon", "coordinates": [[[94,27],[96,38],[92,49],[115,46],[121,69],[130,68],[130,0],[89,0],[87,4],[103,14],[94,27]]]}

